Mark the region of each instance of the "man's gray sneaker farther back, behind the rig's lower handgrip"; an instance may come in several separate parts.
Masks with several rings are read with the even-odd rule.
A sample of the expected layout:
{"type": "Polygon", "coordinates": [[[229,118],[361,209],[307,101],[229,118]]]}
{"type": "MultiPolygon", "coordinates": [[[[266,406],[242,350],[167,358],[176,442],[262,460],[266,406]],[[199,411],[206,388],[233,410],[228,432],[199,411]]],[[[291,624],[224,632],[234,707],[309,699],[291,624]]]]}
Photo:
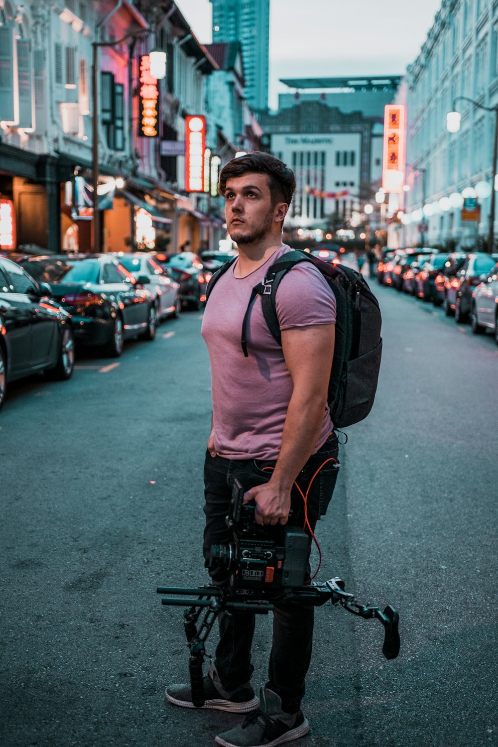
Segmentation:
{"type": "MultiPolygon", "coordinates": [[[[259,707],[259,698],[255,698],[254,690],[249,682],[240,685],[237,689],[225,690],[212,662],[203,682],[205,704],[202,708],[227,710],[230,713],[251,713],[259,707]]],[[[192,702],[190,685],[168,685],[166,687],[166,698],[173,705],[179,705],[182,708],[195,708],[192,702]]]]}

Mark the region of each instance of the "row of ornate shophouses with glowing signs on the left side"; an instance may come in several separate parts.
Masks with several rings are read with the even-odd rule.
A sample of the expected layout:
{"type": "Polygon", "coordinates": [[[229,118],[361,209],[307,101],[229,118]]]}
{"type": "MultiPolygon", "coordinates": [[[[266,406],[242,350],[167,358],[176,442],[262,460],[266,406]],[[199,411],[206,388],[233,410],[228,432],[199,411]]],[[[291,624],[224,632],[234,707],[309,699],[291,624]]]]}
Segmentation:
{"type": "MultiPolygon", "coordinates": [[[[33,0],[20,7],[3,0],[0,35],[0,65],[11,73],[0,80],[0,200],[13,226],[8,237],[7,223],[0,226],[0,251],[95,249],[94,172],[98,249],[217,244],[225,234],[221,200],[186,183],[184,143],[193,116],[204,122],[212,155],[227,139],[207,95],[219,66],[178,4],[158,11],[149,1],[33,0]],[[156,81],[155,108],[145,111],[141,94],[154,91],[144,65],[155,47],[166,52],[166,76],[156,81]]],[[[225,149],[220,165],[229,157],[225,149]]]]}

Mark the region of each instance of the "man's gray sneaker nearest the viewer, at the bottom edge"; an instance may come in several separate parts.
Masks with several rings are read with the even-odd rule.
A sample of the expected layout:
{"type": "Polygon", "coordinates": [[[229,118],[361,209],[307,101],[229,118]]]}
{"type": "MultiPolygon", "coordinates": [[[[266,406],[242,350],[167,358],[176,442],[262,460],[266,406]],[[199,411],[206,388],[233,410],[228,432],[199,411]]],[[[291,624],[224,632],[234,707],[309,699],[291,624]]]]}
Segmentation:
{"type": "Polygon", "coordinates": [[[284,713],[276,692],[261,687],[261,710],[247,716],[243,724],[218,734],[216,741],[222,747],[273,747],[299,740],[308,734],[310,725],[302,715],[284,713]]]}

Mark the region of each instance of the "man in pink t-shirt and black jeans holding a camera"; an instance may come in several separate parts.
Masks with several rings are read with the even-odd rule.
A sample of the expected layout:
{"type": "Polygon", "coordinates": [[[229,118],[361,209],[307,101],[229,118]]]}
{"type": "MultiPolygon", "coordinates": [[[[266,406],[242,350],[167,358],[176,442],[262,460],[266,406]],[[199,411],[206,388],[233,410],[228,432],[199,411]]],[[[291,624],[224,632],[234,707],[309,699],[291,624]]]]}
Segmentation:
{"type": "MultiPolygon", "coordinates": [[[[259,296],[249,317],[247,358],[240,344],[253,286],[289,250],[281,232],[295,187],[293,172],[266,153],[234,158],[220,173],[228,232],[239,256],[214,285],[202,322],[213,399],[204,474],[207,567],[211,545],[231,540],[225,517],[236,477],[246,488],[244,501],[255,501],[258,524],[286,524],[292,506],[293,524],[302,527],[303,500],[294,482],[305,493],[326,462],[308,494],[308,520],[314,529],[326,512],[337,475],[337,438],[327,406],[335,299],[319,270],[304,262],[281,280],[276,294],[281,346],[270,334],[259,296]]],[[[210,575],[214,583],[227,580],[222,568],[210,568],[210,575]]],[[[272,746],[308,733],[300,704],[313,623],[311,605],[276,608],[269,680],[260,702],[249,683],[255,616],[220,616],[220,643],[205,677],[204,707],[249,716],[218,735],[217,743],[272,746]]],[[[193,707],[190,686],[168,686],[166,698],[193,707]]]]}

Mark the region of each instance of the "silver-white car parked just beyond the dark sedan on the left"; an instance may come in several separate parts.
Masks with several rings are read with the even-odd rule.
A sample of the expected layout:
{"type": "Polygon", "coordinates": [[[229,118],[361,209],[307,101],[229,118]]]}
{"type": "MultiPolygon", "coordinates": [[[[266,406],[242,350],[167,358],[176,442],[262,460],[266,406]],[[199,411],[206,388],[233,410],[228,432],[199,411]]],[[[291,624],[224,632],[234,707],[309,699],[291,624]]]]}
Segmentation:
{"type": "Polygon", "coordinates": [[[154,257],[145,252],[116,255],[119,264],[134,276],[138,285],[146,285],[152,294],[158,322],[178,317],[181,311],[180,284],[172,280],[154,257]]]}

